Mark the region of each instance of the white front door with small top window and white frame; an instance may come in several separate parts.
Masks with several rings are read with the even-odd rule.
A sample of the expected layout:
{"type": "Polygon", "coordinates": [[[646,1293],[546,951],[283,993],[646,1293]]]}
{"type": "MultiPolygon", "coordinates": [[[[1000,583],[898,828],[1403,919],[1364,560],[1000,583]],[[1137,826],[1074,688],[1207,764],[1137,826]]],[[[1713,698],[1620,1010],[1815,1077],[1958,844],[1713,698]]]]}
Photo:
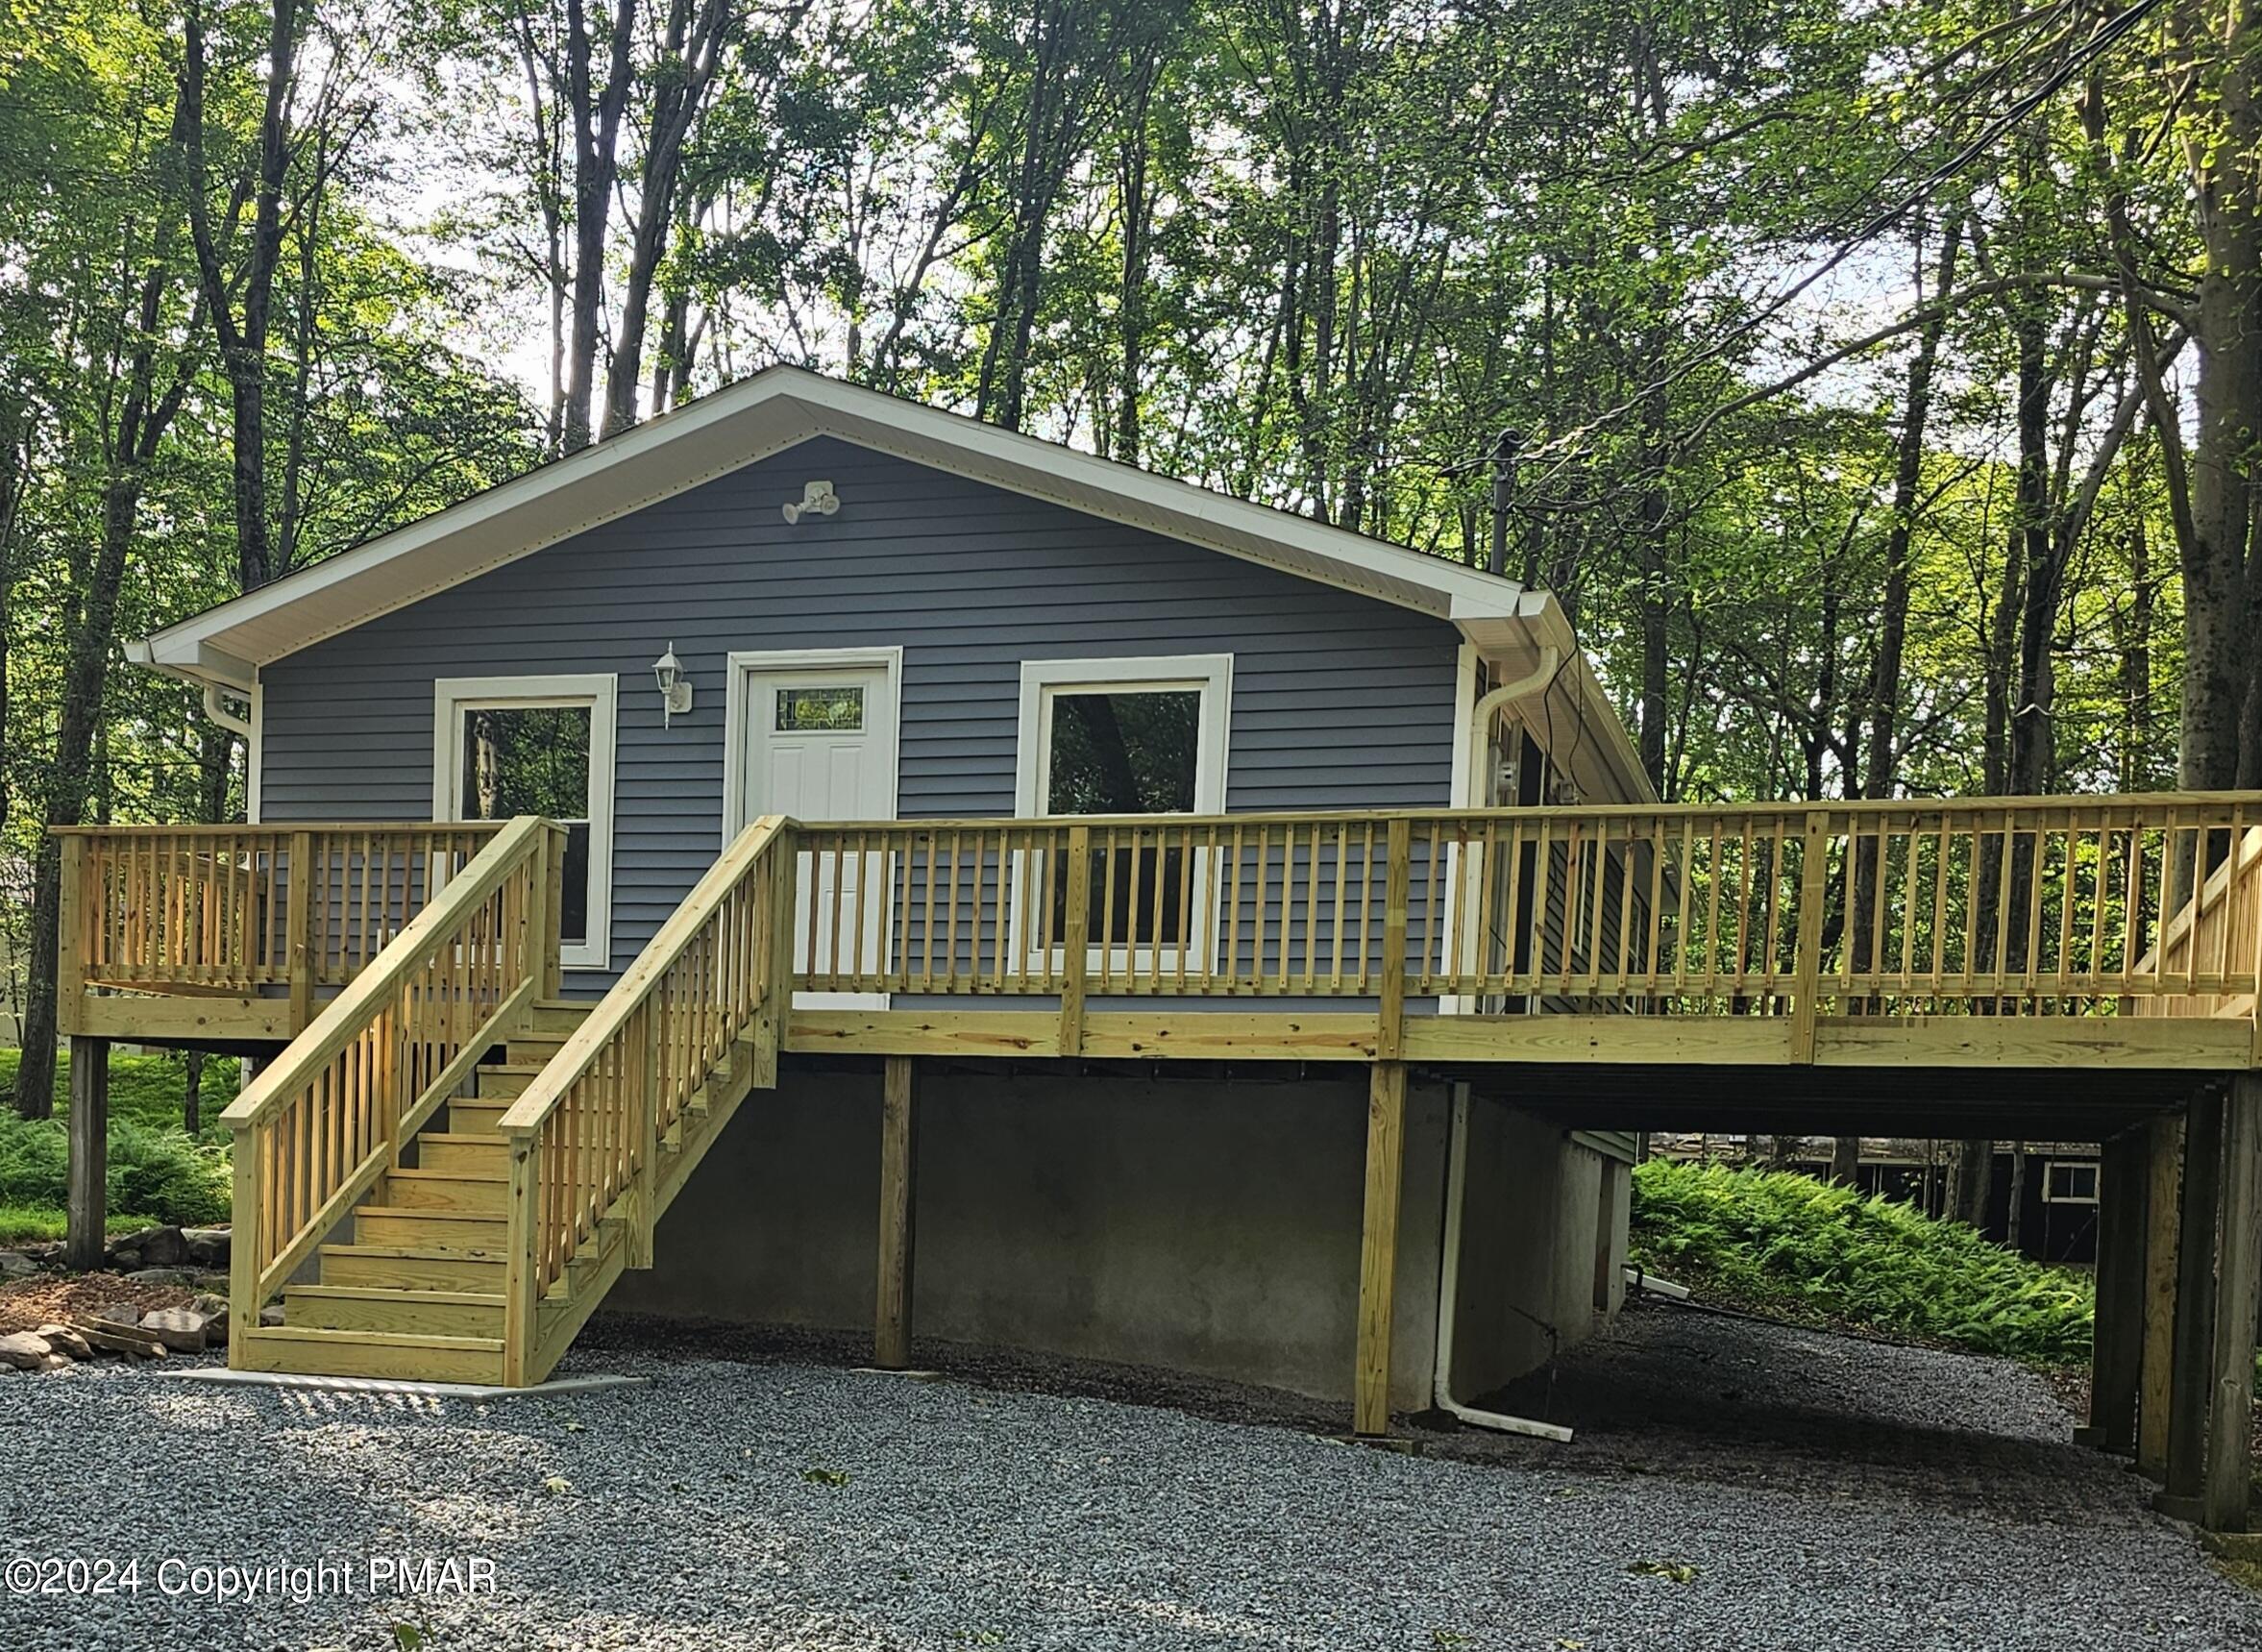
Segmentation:
{"type": "MultiPolygon", "coordinates": [[[[744,819],[792,815],[830,819],[896,815],[896,686],[884,665],[746,668],[744,819]]],[[[880,973],[887,969],[887,874],[873,898],[857,887],[857,862],[801,855],[794,878],[794,960],[798,969],[880,973]],[[821,887],[819,887],[821,885],[821,887]],[[810,903],[821,921],[810,937],[810,903]],[[837,921],[832,921],[837,919],[837,921]],[[841,928],[846,923],[846,928],[841,928]],[[812,955],[814,946],[814,955],[812,955]]],[[[803,1007],[884,1007],[887,993],[794,993],[803,1007]]]]}

